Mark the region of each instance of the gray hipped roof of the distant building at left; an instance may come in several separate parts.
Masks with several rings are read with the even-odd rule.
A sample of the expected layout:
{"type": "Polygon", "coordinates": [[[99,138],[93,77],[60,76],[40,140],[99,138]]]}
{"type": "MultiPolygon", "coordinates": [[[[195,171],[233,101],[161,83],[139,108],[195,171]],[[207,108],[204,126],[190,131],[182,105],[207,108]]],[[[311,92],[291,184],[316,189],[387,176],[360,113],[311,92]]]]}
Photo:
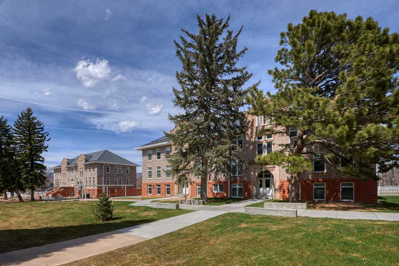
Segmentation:
{"type": "MultiPolygon", "coordinates": [[[[140,166],[106,149],[83,155],[86,157],[86,162],[104,162],[112,164],[127,164],[132,166],[140,166]]],[[[79,156],[76,156],[73,159],[66,159],[68,161],[68,165],[77,164],[78,158],[79,156]]],[[[61,167],[61,165],[57,165],[55,167],[61,167]]]]}

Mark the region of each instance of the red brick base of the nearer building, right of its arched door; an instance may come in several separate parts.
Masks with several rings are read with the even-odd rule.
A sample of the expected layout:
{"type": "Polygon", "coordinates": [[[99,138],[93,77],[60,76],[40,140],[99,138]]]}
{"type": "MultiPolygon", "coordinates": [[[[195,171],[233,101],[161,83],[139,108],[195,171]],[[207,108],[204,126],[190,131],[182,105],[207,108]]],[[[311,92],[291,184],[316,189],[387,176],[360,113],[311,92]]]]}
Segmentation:
{"type": "MultiPolygon", "coordinates": [[[[362,181],[359,179],[308,179],[300,180],[301,183],[301,200],[313,201],[313,183],[326,183],[326,201],[340,201],[340,183],[353,182],[355,189],[355,202],[359,203],[376,203],[377,202],[377,181],[372,179],[362,181]]],[[[289,181],[280,180],[280,199],[289,198],[289,181]]]]}

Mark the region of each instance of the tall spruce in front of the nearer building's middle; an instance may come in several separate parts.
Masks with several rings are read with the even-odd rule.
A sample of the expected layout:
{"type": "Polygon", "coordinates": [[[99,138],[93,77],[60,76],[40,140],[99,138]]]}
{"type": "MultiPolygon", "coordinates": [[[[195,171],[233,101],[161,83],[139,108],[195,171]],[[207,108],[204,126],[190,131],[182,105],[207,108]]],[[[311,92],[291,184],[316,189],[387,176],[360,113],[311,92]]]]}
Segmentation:
{"type": "Polygon", "coordinates": [[[173,88],[173,103],[181,111],[169,115],[176,128],[166,135],[174,145],[169,156],[176,181],[200,177],[200,198],[207,200],[207,180],[217,174],[231,177],[231,161],[238,161],[231,143],[244,130],[244,114],[240,108],[249,89],[242,89],[252,76],[238,60],[247,48],[236,51],[238,36],[225,21],[214,14],[197,16],[199,32],[182,31],[175,41],[176,56],[182,70],[176,73],[180,89],[173,88]]]}

